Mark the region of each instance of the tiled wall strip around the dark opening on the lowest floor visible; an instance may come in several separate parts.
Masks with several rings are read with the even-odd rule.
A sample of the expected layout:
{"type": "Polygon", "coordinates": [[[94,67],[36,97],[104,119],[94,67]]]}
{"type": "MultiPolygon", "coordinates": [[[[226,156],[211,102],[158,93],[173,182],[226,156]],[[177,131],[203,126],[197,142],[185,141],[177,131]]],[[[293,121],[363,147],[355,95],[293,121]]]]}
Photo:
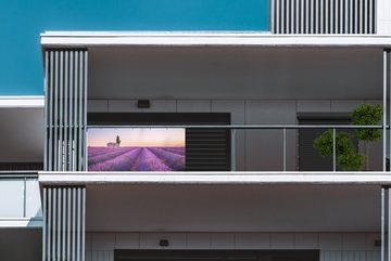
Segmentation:
{"type": "MultiPolygon", "coordinates": [[[[101,234],[112,242],[113,233],[101,234]]],[[[380,261],[379,247],[366,250],[363,238],[378,233],[116,233],[111,250],[92,249],[86,260],[113,261],[114,249],[319,249],[320,261],[380,261]],[[343,237],[343,243],[342,243],[343,237]],[[160,239],[168,239],[169,247],[160,247],[160,239]],[[319,240],[320,239],[320,240],[319,240]],[[345,246],[343,246],[345,244],[345,246]],[[345,248],[343,250],[342,248],[345,248]],[[353,250],[353,248],[355,248],[353,250]]],[[[106,246],[106,245],[105,245],[106,246]]],[[[101,246],[98,246],[101,248],[101,246]]]]}

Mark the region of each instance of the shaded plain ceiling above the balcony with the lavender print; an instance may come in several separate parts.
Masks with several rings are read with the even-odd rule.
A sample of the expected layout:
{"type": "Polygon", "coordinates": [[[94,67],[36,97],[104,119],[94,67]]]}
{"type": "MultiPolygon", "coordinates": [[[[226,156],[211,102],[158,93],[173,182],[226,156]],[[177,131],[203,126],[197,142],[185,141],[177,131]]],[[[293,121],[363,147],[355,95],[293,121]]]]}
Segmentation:
{"type": "Polygon", "coordinates": [[[381,49],[89,49],[89,99],[375,100],[381,95],[381,49]]]}

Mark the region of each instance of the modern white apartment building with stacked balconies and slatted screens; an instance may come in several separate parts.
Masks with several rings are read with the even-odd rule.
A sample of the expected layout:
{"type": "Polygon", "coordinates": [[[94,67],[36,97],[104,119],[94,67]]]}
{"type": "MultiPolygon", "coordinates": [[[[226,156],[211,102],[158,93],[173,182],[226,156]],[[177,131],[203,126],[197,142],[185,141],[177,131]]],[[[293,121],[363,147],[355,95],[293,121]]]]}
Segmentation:
{"type": "Polygon", "coordinates": [[[45,97],[0,99],[1,260],[391,260],[391,2],[270,0],[266,32],[41,47],[45,97]],[[381,120],[352,125],[363,104],[381,120]],[[353,139],[365,160],[343,171],[356,130],[381,138],[353,139]]]}

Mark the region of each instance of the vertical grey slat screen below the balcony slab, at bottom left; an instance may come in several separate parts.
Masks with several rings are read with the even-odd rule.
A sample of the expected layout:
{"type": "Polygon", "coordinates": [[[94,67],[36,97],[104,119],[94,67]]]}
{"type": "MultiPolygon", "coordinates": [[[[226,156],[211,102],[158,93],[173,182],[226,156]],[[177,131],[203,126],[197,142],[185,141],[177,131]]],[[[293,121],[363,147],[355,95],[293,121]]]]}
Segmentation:
{"type": "Polygon", "coordinates": [[[86,187],[43,187],[42,261],[85,261],[86,187]]]}

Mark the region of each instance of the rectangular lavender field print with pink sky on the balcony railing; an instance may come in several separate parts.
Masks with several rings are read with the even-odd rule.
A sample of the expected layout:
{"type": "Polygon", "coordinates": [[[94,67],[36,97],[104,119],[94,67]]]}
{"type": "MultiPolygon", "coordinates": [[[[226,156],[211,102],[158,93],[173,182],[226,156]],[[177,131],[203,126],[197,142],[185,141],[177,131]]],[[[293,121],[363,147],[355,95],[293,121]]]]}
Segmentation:
{"type": "Polygon", "coordinates": [[[88,171],[185,170],[185,129],[88,128],[88,171]]]}

